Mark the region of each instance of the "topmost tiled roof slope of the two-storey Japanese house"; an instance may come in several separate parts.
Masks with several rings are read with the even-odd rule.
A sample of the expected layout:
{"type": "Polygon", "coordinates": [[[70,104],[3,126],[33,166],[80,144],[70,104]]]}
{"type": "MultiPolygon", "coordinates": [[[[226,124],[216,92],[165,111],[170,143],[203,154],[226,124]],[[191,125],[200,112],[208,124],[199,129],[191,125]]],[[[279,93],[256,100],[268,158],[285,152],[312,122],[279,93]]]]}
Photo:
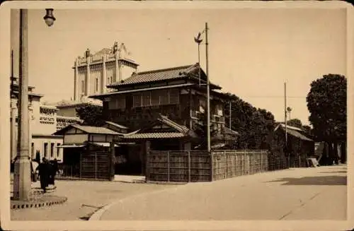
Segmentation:
{"type": "Polygon", "coordinates": [[[125,81],[113,83],[112,85],[127,85],[135,83],[161,81],[172,78],[183,78],[195,68],[198,68],[198,64],[133,73],[132,76],[130,76],[130,78],[127,78],[125,81]]]}

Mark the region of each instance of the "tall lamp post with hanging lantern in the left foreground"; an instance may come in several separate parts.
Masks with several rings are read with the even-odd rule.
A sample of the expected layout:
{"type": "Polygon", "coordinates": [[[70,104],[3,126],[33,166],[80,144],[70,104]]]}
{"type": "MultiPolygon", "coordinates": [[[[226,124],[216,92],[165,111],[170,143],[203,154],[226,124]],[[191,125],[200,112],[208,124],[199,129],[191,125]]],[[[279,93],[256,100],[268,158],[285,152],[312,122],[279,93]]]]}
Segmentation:
{"type": "MultiPolygon", "coordinates": [[[[44,17],[48,26],[53,25],[53,9],[46,9],[44,17]]],[[[20,9],[20,70],[18,96],[18,151],[16,155],[13,199],[28,201],[31,190],[29,155],[29,113],[28,113],[28,9],[20,9]]]]}

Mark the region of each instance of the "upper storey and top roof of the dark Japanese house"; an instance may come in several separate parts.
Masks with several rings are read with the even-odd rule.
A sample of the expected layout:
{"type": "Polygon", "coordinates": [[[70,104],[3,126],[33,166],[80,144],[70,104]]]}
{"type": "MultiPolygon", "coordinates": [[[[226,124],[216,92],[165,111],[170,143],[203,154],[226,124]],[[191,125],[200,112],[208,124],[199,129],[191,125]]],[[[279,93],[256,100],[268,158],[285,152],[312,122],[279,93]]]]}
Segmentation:
{"type": "MultiPolygon", "coordinates": [[[[160,114],[193,129],[206,114],[206,75],[199,64],[133,73],[130,78],[108,85],[115,91],[91,95],[103,101],[105,119],[132,131],[155,122],[160,114]],[[200,71],[200,78],[199,73],[200,71]]],[[[225,130],[221,87],[210,83],[210,123],[218,133],[225,130]]]]}

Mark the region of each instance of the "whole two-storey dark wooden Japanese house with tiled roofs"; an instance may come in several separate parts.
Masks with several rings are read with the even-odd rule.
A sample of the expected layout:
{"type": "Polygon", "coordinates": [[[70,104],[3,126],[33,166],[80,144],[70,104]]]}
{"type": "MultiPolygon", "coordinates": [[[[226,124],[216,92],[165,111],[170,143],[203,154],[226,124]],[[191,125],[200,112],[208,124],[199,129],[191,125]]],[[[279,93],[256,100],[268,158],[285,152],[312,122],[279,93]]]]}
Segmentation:
{"type": "MultiPolygon", "coordinates": [[[[206,143],[206,135],[196,126],[205,126],[207,76],[199,64],[133,73],[130,78],[108,85],[110,93],[91,95],[103,102],[106,121],[129,128],[122,138],[139,146],[126,153],[140,153],[144,163],[149,150],[194,150],[206,143]],[[200,76],[200,78],[199,78],[200,76]]],[[[235,140],[238,133],[225,126],[224,102],[217,92],[221,87],[210,83],[210,125],[212,148],[221,148],[235,140]]]]}

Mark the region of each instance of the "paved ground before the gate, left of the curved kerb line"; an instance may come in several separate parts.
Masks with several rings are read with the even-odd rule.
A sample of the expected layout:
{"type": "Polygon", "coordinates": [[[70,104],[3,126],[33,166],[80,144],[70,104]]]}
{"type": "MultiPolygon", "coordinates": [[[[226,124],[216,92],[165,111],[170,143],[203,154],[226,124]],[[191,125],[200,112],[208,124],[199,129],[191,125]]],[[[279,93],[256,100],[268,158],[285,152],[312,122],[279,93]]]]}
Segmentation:
{"type": "MultiPolygon", "coordinates": [[[[175,187],[162,184],[130,184],[57,180],[55,194],[67,196],[67,202],[43,208],[11,210],[11,220],[86,220],[90,215],[117,199],[175,187]]],[[[34,186],[39,186],[36,182],[34,186]]]]}

